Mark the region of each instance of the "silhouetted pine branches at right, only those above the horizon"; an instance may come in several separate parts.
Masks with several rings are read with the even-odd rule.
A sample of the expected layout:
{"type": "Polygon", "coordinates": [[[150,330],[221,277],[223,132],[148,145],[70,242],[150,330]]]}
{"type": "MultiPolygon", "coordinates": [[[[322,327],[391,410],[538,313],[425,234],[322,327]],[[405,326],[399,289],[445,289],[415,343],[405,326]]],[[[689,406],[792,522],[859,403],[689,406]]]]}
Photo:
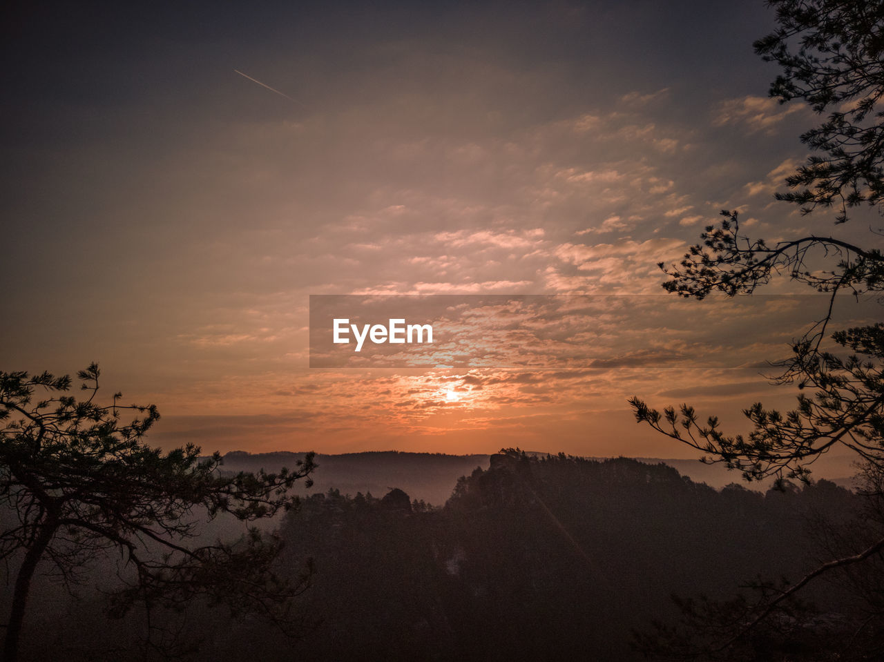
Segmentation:
{"type": "MultiPolygon", "coordinates": [[[[884,113],[876,109],[884,95],[884,3],[774,0],[770,4],[777,9],[779,27],[755,47],[763,57],[775,59],[783,67],[771,94],[782,102],[802,98],[818,112],[841,104],[827,123],[812,132],[825,133],[827,140],[811,141],[805,134],[805,142],[824,156],[813,156],[810,165],[789,178],[791,186],[817,182],[816,188],[797,197],[780,197],[807,202],[804,198],[809,195],[812,206],[827,206],[835,196],[847,205],[863,200],[880,205],[884,113]],[[799,49],[793,53],[790,44],[796,42],[799,49]],[[875,121],[864,133],[858,123],[870,117],[875,121]],[[857,149],[847,148],[854,143],[857,149]]],[[[751,294],[774,275],[785,273],[829,293],[825,315],[796,340],[792,358],[776,377],[782,382],[797,381],[799,388],[812,387],[816,392],[799,396],[796,410],[786,415],[760,404],[746,409],[754,426],[748,438],[723,434],[714,417],[701,424],[693,408],[687,406],[679,413],[668,408],[660,415],[640,399],[632,399],[637,419],[709,453],[713,460],[743,470],[750,479],[768,475],[804,479],[807,464],[838,444],[848,446],[873,467],[884,468],[884,325],[838,331],[830,336],[832,351],[824,351],[823,346],[829,338],[827,324],[838,293],[884,290],[884,256],[877,248],[817,235],[769,247],[764,240],[750,240],[740,233],[736,212],[722,214],[725,221],[717,228],[708,226],[702,243],[691,247],[681,263],[672,267],[660,264],[671,277],[664,288],[697,299],[715,291],[735,296],[751,294]],[[834,265],[828,270],[814,269],[816,265],[809,264],[814,251],[834,265]],[[850,350],[850,356],[839,351],[845,349],[850,350]]],[[[842,212],[837,222],[844,220],[842,212]]]]}

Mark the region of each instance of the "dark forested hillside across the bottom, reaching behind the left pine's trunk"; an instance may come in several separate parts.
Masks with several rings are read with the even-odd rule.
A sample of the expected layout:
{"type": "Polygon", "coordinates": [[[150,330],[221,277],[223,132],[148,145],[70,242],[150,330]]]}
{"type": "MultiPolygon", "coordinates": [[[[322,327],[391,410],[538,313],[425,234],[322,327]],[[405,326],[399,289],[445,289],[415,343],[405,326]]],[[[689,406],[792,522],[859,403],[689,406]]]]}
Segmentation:
{"type": "MultiPolygon", "coordinates": [[[[664,464],[510,450],[462,476],[444,506],[331,488],[277,519],[280,571],[312,559],[294,639],[208,598],[106,620],[120,564],[103,558],[76,597],[42,578],[21,658],[642,658],[633,631],[677,620],[671,594],[730,597],[761,573],[794,582],[823,553],[821,532],[854,526],[860,499],[825,480],[716,491],[664,464]]],[[[831,622],[851,618],[846,584],[804,597],[831,622]]]]}

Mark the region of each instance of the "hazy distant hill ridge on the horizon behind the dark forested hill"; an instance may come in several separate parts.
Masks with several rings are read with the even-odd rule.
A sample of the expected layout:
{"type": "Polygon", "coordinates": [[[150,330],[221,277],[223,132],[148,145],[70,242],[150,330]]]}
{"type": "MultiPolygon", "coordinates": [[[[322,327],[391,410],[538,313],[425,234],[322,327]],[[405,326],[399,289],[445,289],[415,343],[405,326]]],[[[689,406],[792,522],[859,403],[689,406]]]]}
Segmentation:
{"type": "MultiPolygon", "coordinates": [[[[546,453],[530,453],[545,455],[546,453]]],[[[233,451],[224,456],[225,471],[278,471],[279,468],[293,468],[304,453],[246,453],[233,451]]],[[[423,499],[433,506],[442,506],[451,496],[457,479],[469,476],[476,467],[487,469],[490,455],[447,455],[445,453],[400,453],[399,451],[377,451],[368,453],[342,453],[338,455],[316,455],[318,468],[313,475],[314,485],[306,494],[316,494],[338,489],[341,494],[355,496],[357,492],[383,496],[398,487],[416,499],[423,499]]],[[[606,460],[607,458],[588,458],[606,460]]],[[[738,472],[728,471],[721,464],[703,464],[697,460],[672,460],[660,458],[635,458],[646,464],[663,462],[688,476],[695,483],[706,483],[720,490],[730,483],[766,491],[772,481],[746,483],[738,472]]],[[[827,478],[842,487],[850,488],[852,471],[848,460],[834,458],[825,470],[818,469],[815,478],[827,478]]]]}

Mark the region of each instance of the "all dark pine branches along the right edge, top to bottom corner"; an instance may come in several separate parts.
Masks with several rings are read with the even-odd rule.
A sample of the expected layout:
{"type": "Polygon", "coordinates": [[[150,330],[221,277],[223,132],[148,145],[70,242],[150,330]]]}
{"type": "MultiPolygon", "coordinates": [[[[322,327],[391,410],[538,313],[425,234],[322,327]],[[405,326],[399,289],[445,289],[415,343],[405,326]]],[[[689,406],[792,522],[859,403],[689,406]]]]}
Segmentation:
{"type": "MultiPolygon", "coordinates": [[[[755,43],[759,55],[781,65],[771,95],[781,103],[800,99],[827,119],[801,140],[812,155],[786,180],[790,190],[778,199],[799,205],[804,214],[834,208],[834,224],[844,224],[862,205],[884,211],[884,2],[840,0],[773,0],[777,29],[755,43]],[[850,212],[849,212],[850,210],[850,212]]],[[[846,447],[863,467],[869,511],[865,526],[830,532],[837,545],[815,570],[792,582],[754,582],[754,601],[723,605],[686,605],[694,638],[684,631],[663,630],[668,652],[725,655],[734,644],[767,628],[795,624],[806,613],[797,602],[799,590],[820,577],[841,572],[865,574],[864,585],[878,587],[863,597],[865,616],[839,632],[843,650],[838,659],[876,658],[884,654],[884,593],[880,562],[884,552],[884,324],[871,323],[834,333],[829,329],[835,297],[840,293],[879,296],[884,290],[884,230],[870,226],[865,240],[830,234],[808,234],[768,246],[741,232],[736,212],[710,225],[701,242],[681,263],[666,267],[669,292],[703,299],[714,292],[751,294],[776,276],[791,278],[829,295],[827,309],[804,337],[773,381],[801,389],[796,408],[780,412],[755,403],[743,410],[751,422],[748,435],[728,434],[718,419],[702,420],[693,407],[667,407],[662,412],[641,399],[631,400],[636,419],[705,453],[708,461],[724,462],[747,480],[775,476],[809,481],[810,466],[823,453],[846,447]],[[863,568],[863,569],[860,569],[863,568]],[[869,577],[869,568],[877,571],[869,577]],[[728,623],[728,628],[723,624],[728,623]],[[702,627],[697,627],[702,624],[702,627]],[[708,635],[719,628],[720,636],[708,635]],[[699,635],[697,636],[697,633],[699,635]],[[687,637],[687,638],[686,638],[687,637]],[[692,645],[698,640],[705,645],[692,645]],[[860,645],[867,643],[864,646],[860,645]],[[871,657],[863,657],[863,656],[871,657]],[[850,657],[853,656],[853,657],[850,657]]],[[[880,302],[880,300],[879,300],[880,302]]],[[[857,593],[858,595],[858,593],[857,593]]],[[[773,630],[772,630],[773,628],[773,630]]],[[[815,626],[819,632],[819,623],[815,626]]],[[[812,628],[806,629],[810,632],[812,628]]],[[[819,645],[814,647],[819,657],[819,645]]],[[[714,656],[713,656],[714,657],[714,656]]],[[[814,658],[811,657],[810,658],[814,658]]],[[[814,659],[816,659],[814,658],[814,659]]]]}

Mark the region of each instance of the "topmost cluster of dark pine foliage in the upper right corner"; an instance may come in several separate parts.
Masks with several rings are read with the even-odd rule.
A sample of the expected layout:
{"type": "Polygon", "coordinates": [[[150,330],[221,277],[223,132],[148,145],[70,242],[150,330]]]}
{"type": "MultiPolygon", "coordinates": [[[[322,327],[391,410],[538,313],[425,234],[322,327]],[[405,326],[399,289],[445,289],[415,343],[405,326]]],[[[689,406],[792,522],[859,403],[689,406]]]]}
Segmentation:
{"type": "Polygon", "coordinates": [[[756,52],[782,67],[770,95],[781,103],[803,99],[817,113],[830,111],[801,141],[812,155],[787,179],[796,189],[777,198],[799,204],[847,209],[884,202],[884,4],[843,0],[773,0],[778,27],[755,42],[756,52]],[[797,49],[795,49],[797,47],[797,49]]]}

